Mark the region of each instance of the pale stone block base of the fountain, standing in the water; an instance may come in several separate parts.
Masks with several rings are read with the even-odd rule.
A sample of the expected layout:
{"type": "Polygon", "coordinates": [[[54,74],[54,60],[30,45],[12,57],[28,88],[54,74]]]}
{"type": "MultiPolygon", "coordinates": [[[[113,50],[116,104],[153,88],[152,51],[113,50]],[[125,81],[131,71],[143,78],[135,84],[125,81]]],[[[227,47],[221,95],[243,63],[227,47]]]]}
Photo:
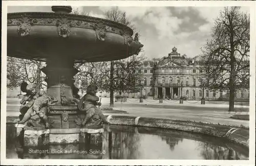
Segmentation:
{"type": "Polygon", "coordinates": [[[45,127],[28,127],[16,124],[16,134],[24,138],[24,146],[86,144],[100,149],[102,146],[103,126],[88,128],[46,129],[45,127]]]}

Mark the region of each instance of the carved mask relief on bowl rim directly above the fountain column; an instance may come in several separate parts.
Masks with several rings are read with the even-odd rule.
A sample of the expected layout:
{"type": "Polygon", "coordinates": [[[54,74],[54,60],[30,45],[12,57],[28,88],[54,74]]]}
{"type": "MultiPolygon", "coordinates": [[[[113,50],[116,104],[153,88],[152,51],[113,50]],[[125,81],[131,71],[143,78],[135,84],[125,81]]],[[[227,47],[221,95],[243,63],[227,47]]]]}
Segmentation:
{"type": "Polygon", "coordinates": [[[64,38],[70,36],[71,25],[72,25],[71,20],[68,20],[67,18],[62,17],[60,19],[57,19],[56,25],[57,25],[57,32],[59,36],[64,38]]]}

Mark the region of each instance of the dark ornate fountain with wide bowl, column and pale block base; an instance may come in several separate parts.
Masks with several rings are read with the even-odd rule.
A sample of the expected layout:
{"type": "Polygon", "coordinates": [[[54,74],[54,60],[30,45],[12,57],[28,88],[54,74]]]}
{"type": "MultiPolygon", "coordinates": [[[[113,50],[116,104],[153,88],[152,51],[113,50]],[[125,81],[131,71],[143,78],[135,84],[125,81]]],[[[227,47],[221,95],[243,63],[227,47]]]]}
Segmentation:
{"type": "Polygon", "coordinates": [[[46,62],[50,127],[16,124],[26,146],[89,141],[98,144],[102,126],[81,125],[75,102],[75,63],[124,59],[138,54],[142,44],[133,30],[111,20],[69,14],[70,6],[52,6],[50,12],[8,13],[7,56],[46,62]],[[67,102],[69,101],[69,102],[67,102]],[[88,134],[90,140],[88,140],[88,134]]]}

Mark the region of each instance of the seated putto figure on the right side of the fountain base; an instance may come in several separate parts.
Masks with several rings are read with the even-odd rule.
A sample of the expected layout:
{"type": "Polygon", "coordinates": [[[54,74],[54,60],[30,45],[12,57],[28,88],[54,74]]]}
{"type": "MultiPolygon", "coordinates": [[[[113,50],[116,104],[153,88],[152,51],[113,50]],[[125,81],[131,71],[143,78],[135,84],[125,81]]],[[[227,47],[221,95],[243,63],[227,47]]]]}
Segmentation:
{"type": "Polygon", "coordinates": [[[101,125],[102,122],[109,124],[105,116],[99,108],[96,106],[101,106],[99,103],[99,97],[96,96],[98,87],[95,85],[89,85],[87,88],[87,93],[81,98],[78,103],[78,109],[86,114],[82,121],[82,126],[84,125],[101,125]]]}

